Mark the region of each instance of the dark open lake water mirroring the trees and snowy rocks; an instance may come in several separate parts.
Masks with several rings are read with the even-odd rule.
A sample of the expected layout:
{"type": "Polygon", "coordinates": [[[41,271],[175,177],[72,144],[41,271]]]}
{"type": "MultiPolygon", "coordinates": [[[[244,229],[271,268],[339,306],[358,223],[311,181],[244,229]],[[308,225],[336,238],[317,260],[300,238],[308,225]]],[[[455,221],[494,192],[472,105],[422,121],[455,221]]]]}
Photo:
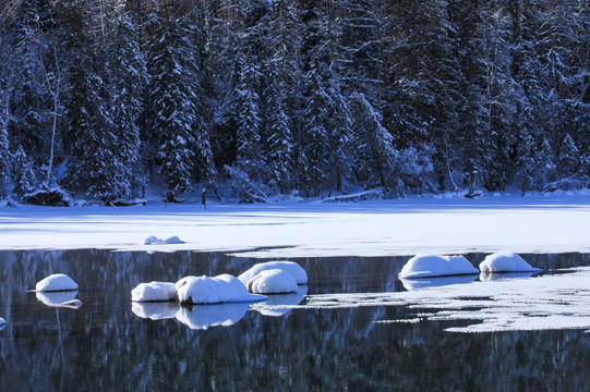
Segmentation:
{"type": "MultiPolygon", "coordinates": [[[[474,264],[483,257],[468,255],[474,264]]],[[[545,270],[590,265],[579,254],[525,258],[545,270]]],[[[293,260],[308,271],[308,294],[317,294],[404,290],[397,273],[408,259],[293,260]]],[[[457,334],[443,331],[449,322],[375,323],[404,318],[401,307],[132,309],[130,292],[140,282],[239,274],[255,262],[186,252],[2,252],[0,317],[9,323],[0,331],[0,390],[581,391],[590,384],[583,331],[457,334]],[[52,272],[80,284],[82,307],[47,306],[26,292],[52,272]],[[231,316],[217,322],[224,313],[231,316]]]]}

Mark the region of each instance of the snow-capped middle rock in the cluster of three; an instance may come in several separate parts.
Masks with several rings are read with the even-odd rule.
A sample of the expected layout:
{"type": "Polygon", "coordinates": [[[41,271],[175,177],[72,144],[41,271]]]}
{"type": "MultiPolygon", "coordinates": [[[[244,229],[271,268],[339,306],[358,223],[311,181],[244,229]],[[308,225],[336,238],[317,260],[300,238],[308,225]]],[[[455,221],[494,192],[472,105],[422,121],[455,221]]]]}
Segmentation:
{"type": "Polygon", "coordinates": [[[262,295],[249,293],[238,278],[227,273],[214,278],[185,277],[176,283],[176,289],[181,304],[222,304],[266,299],[262,295]]]}

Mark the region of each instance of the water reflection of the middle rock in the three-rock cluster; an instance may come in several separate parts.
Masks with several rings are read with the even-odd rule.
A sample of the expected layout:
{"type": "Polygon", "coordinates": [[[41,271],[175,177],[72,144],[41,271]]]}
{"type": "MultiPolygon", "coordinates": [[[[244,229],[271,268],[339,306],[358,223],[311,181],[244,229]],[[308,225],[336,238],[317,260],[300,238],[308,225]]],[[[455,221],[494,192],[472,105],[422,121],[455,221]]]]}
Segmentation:
{"type": "Polygon", "coordinates": [[[217,304],[180,307],[177,319],[194,330],[206,330],[209,327],[229,327],[244,317],[250,304],[217,304]]]}

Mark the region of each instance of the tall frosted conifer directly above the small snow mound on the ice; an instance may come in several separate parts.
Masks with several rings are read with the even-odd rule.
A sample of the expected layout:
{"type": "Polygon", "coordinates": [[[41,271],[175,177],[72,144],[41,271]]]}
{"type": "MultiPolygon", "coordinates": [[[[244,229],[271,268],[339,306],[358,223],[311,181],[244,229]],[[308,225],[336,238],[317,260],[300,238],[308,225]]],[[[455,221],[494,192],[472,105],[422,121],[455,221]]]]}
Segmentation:
{"type": "Polygon", "coordinates": [[[186,19],[171,0],[154,2],[147,25],[147,70],[158,160],[165,185],[173,195],[192,187],[195,172],[196,81],[186,19]]]}

